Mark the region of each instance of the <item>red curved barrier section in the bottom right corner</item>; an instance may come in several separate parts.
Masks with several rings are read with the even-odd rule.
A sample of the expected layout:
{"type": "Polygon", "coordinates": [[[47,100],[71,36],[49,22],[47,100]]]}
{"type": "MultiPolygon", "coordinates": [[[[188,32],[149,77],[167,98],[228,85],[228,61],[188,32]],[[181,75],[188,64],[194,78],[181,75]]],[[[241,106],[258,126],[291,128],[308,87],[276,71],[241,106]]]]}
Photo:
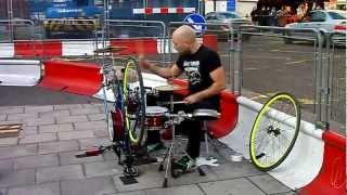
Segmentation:
{"type": "Polygon", "coordinates": [[[301,188],[303,195],[342,195],[346,190],[346,136],[324,131],[324,158],[317,178],[301,188]]]}

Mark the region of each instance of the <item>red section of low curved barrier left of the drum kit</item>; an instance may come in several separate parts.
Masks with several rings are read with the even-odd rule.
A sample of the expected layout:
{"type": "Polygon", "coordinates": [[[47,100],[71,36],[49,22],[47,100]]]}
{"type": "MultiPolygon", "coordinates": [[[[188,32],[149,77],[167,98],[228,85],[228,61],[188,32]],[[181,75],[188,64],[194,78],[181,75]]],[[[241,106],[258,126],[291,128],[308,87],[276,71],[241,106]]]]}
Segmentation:
{"type": "Polygon", "coordinates": [[[94,95],[101,88],[100,66],[91,63],[47,61],[39,87],[69,93],[94,95]]]}

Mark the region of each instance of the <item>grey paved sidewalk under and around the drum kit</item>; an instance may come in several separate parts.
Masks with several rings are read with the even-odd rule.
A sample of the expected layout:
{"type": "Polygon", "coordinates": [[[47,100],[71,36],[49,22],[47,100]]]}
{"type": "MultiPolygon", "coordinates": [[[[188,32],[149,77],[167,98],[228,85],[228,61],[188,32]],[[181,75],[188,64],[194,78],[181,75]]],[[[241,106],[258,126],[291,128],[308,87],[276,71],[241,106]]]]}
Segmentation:
{"type": "Polygon", "coordinates": [[[0,139],[0,195],[264,195],[296,194],[248,161],[220,158],[207,176],[169,179],[158,165],[140,166],[138,183],[124,184],[111,152],[75,158],[78,151],[107,142],[102,104],[0,107],[0,125],[23,123],[18,138],[0,139]]]}

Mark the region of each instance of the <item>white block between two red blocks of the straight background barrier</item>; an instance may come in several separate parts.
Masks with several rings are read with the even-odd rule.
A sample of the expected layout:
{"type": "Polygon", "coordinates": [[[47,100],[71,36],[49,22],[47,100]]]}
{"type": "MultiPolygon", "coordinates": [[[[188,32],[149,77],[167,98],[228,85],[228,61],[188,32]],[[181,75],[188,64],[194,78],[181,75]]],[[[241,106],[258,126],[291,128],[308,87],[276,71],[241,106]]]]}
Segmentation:
{"type": "MultiPolygon", "coordinates": [[[[106,42],[110,46],[110,42],[106,42]]],[[[94,41],[63,41],[63,56],[93,55],[97,49],[103,48],[102,42],[94,41]]]]}

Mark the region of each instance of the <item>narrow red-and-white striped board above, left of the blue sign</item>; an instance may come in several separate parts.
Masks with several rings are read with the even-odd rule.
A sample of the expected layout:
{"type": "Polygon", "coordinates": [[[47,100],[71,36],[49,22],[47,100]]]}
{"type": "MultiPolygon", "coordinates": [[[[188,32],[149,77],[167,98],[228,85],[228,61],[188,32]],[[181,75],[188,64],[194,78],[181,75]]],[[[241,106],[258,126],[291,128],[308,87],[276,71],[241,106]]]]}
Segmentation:
{"type": "Polygon", "coordinates": [[[144,9],[133,9],[133,14],[183,14],[193,13],[195,8],[144,8],[144,9]]]}

